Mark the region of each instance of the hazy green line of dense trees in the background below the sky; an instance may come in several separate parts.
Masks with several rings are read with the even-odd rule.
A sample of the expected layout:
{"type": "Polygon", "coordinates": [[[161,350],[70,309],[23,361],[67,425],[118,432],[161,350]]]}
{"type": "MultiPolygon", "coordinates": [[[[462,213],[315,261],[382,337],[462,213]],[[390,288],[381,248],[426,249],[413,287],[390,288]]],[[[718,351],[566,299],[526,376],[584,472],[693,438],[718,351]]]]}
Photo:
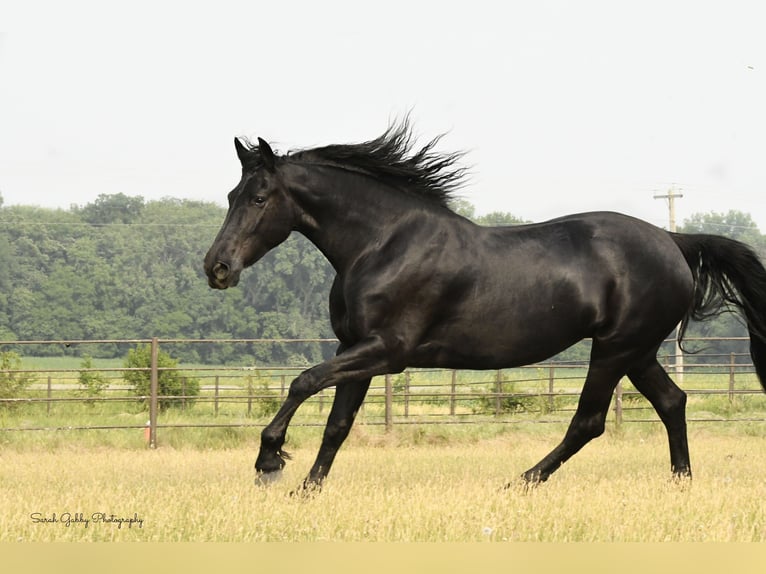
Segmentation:
{"type": "MultiPolygon", "coordinates": [[[[476,216],[484,225],[516,225],[509,213],[476,216]]],[[[0,198],[0,341],[161,338],[332,338],[327,298],[334,272],[322,254],[293,234],[240,284],[212,290],[202,260],[225,209],[183,199],[147,201],[104,194],[69,209],[4,206],[0,198]]],[[[763,256],[766,239],[749,215],[700,214],[682,231],[742,239],[763,256]]],[[[694,334],[744,334],[729,318],[694,334]]],[[[184,361],[311,364],[333,351],[302,345],[179,345],[184,361]]],[[[25,347],[25,354],[124,357],[117,344],[25,347]]]]}

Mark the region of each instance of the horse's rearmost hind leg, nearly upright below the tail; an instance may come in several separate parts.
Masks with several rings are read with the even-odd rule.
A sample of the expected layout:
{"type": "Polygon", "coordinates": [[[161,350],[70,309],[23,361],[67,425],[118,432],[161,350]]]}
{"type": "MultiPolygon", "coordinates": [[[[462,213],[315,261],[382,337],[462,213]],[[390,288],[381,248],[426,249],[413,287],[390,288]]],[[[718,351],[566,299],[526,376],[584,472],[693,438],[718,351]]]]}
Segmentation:
{"type": "Polygon", "coordinates": [[[691,478],[689,443],[686,436],[686,393],[670,379],[652,356],[645,364],[628,371],[633,385],[657,411],[670,444],[670,467],[677,477],[691,478]]]}

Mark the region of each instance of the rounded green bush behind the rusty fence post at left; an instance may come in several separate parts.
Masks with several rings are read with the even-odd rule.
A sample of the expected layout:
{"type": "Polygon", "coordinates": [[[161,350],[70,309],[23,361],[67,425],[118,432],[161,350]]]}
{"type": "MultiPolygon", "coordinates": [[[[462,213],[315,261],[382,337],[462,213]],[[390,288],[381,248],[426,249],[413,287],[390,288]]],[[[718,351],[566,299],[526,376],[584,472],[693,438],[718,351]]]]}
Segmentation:
{"type": "MultiPolygon", "coordinates": [[[[125,359],[125,367],[129,369],[143,369],[140,371],[125,371],[123,378],[133,386],[134,392],[143,398],[143,402],[149,404],[151,393],[152,348],[151,345],[139,345],[128,351],[125,359]]],[[[160,398],[158,400],[160,410],[166,410],[172,406],[191,406],[194,399],[185,397],[199,396],[199,379],[183,376],[176,367],[178,361],[164,351],[157,354],[157,386],[160,398]]]]}

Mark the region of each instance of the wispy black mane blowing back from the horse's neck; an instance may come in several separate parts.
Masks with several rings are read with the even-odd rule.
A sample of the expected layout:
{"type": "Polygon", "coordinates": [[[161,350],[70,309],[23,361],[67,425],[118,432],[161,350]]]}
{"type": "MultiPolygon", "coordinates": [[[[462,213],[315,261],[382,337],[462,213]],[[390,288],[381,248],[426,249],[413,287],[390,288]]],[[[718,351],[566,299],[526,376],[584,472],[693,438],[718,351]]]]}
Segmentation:
{"type": "MultiPolygon", "coordinates": [[[[463,152],[434,151],[441,137],[434,138],[416,151],[410,123],[405,119],[392,124],[380,137],[371,141],[299,150],[281,159],[364,173],[447,206],[451,194],[464,184],[467,170],[457,165],[463,152]]],[[[248,144],[248,149],[252,154],[252,167],[259,167],[258,146],[248,144]]]]}

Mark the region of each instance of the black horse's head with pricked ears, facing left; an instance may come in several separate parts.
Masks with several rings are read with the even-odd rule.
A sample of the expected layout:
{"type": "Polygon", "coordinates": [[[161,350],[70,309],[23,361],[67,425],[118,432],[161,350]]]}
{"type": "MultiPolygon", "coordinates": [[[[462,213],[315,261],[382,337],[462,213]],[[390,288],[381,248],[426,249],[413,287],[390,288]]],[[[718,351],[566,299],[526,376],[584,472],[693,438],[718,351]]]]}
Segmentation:
{"type": "Polygon", "coordinates": [[[205,273],[214,289],[239,282],[239,274],[282,243],[296,223],[295,205],[280,173],[279,157],[258,138],[257,147],[234,140],[242,179],[229,193],[229,211],[205,256],[205,273]]]}

